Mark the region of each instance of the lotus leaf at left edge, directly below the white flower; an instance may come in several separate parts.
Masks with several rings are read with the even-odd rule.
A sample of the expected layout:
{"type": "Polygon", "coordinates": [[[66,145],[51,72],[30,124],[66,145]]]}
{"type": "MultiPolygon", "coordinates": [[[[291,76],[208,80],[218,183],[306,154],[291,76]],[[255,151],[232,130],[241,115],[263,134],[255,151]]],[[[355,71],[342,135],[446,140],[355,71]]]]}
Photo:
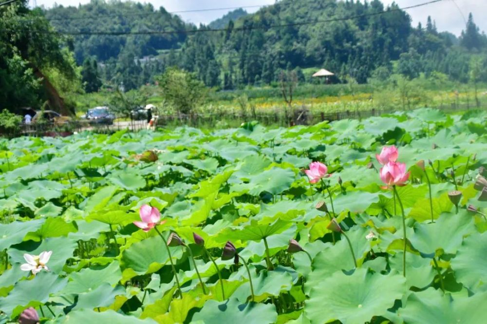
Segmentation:
{"type": "Polygon", "coordinates": [[[62,289],[67,281],[53,272],[41,271],[32,280],[19,281],[7,297],[0,298],[0,310],[15,317],[29,306],[47,302],[49,295],[62,289]]]}

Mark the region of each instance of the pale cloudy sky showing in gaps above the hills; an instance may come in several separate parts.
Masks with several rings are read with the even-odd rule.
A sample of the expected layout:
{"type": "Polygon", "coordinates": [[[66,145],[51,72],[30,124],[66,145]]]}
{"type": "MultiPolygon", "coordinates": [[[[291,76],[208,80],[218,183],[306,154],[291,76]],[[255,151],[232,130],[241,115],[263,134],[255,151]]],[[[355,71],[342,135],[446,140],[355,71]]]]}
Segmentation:
{"type": "MultiPolygon", "coordinates": [[[[89,1],[90,0],[37,0],[37,5],[51,7],[54,3],[59,3],[64,6],[77,6],[78,3],[87,3],[89,1]]],[[[393,0],[382,1],[386,4],[393,2],[393,0]]],[[[395,0],[400,7],[406,7],[426,1],[427,0],[395,0]]],[[[206,8],[266,5],[274,3],[275,0],[142,0],[141,2],[150,2],[156,8],[164,6],[168,11],[181,11],[206,8]]],[[[248,12],[255,12],[258,10],[258,8],[248,8],[246,10],[248,12]]],[[[223,16],[226,12],[228,12],[228,10],[193,12],[182,13],[180,16],[185,21],[199,24],[208,23],[223,16]]],[[[424,25],[427,17],[430,15],[431,18],[436,21],[438,30],[447,30],[455,35],[460,35],[460,32],[465,27],[464,17],[468,18],[469,12],[473,13],[474,20],[477,25],[479,25],[480,29],[482,31],[487,31],[487,0],[443,0],[425,7],[408,10],[414,25],[417,25],[419,21],[421,21],[424,25]]]]}

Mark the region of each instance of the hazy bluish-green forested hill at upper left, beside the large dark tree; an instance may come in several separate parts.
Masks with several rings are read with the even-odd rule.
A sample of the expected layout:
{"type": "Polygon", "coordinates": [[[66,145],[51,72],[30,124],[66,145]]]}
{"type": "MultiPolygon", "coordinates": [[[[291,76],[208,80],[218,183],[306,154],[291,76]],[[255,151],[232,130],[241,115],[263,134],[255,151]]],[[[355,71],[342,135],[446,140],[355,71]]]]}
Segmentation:
{"type": "MultiPolygon", "coordinates": [[[[78,7],[56,5],[45,10],[45,17],[61,32],[174,31],[194,28],[179,16],[169,14],[163,7],[156,10],[151,4],[119,0],[92,0],[78,7]]],[[[178,48],[185,38],[185,34],[74,36],[75,58],[81,64],[90,56],[95,56],[98,61],[117,58],[120,54],[132,58],[143,57],[157,54],[158,50],[178,48]]]]}

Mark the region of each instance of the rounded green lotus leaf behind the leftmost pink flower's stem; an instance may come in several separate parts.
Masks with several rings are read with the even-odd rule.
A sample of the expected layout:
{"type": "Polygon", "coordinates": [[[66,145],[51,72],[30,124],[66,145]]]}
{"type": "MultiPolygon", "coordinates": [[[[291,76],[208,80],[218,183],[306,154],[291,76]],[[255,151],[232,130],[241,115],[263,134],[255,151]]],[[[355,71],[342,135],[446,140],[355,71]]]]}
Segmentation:
{"type": "MultiPolygon", "coordinates": [[[[182,256],[181,247],[170,248],[173,258],[182,256]]],[[[159,236],[152,236],[132,244],[122,252],[122,269],[131,269],[136,274],[152,273],[169,262],[168,251],[159,236]]]]}

